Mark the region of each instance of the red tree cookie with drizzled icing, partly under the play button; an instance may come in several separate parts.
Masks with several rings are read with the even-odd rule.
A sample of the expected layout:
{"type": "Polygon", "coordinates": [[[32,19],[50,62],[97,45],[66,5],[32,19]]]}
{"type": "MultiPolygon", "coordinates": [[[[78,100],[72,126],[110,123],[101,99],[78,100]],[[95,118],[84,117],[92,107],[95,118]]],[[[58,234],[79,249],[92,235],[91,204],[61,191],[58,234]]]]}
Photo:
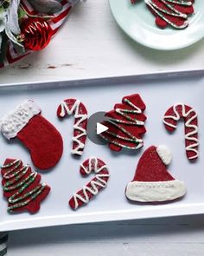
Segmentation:
{"type": "Polygon", "coordinates": [[[143,111],[146,106],[140,95],[128,95],[122,103],[115,104],[114,110],[105,114],[108,127],[100,136],[109,142],[109,148],[120,151],[122,148],[137,149],[143,147],[142,136],[146,132],[143,111]]]}

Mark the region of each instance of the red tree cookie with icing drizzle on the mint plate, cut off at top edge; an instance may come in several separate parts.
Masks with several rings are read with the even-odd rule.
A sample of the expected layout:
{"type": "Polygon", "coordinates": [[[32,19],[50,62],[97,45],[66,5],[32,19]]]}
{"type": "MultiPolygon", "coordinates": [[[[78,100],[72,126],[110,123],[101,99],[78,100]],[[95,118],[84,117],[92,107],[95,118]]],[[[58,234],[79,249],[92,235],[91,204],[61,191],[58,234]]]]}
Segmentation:
{"type": "Polygon", "coordinates": [[[162,29],[168,25],[175,29],[188,26],[188,15],[194,13],[190,0],[145,0],[150,11],[156,16],[156,25],[162,29]]]}

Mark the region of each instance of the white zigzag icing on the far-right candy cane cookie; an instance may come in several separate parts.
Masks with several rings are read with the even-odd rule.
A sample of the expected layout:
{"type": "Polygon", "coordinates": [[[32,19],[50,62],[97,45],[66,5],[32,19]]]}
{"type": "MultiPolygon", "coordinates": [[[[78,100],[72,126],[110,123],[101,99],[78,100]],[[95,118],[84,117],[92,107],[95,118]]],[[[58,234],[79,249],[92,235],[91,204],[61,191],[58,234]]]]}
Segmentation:
{"type": "Polygon", "coordinates": [[[186,141],[193,141],[193,143],[189,144],[186,147],[186,151],[194,152],[193,156],[188,157],[188,159],[193,160],[193,159],[197,158],[198,155],[199,155],[199,152],[198,152],[198,149],[197,149],[197,147],[199,146],[199,140],[194,136],[194,135],[198,134],[198,127],[196,125],[192,124],[192,122],[194,120],[197,120],[197,113],[194,111],[194,108],[191,108],[186,112],[186,108],[185,108],[185,105],[183,103],[176,103],[173,106],[173,111],[174,111],[175,116],[174,115],[165,115],[163,117],[163,123],[166,124],[167,126],[171,127],[171,128],[176,128],[176,124],[174,125],[174,124],[170,123],[168,121],[168,119],[174,120],[174,121],[179,121],[180,120],[180,118],[182,116],[179,115],[179,113],[176,109],[178,107],[182,107],[182,116],[184,117],[184,120],[185,120],[185,127],[193,129],[191,132],[188,132],[185,135],[185,140],[186,141]],[[193,114],[193,115],[190,117],[191,114],[193,114]]]}

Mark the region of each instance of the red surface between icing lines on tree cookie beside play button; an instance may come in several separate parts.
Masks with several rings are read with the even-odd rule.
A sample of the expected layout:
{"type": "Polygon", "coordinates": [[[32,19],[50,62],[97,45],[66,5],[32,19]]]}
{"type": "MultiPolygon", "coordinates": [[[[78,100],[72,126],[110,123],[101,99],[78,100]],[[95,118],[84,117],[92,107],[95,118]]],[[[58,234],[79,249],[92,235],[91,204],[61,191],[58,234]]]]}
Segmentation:
{"type": "MultiPolygon", "coordinates": [[[[116,112],[117,108],[120,108],[121,110],[123,109],[129,109],[129,110],[135,110],[135,108],[133,108],[132,106],[130,106],[127,102],[124,102],[124,99],[129,100],[131,103],[133,103],[135,106],[137,106],[137,108],[140,108],[142,110],[142,112],[145,110],[146,106],[142,100],[142,98],[140,97],[140,95],[128,95],[125,96],[122,100],[122,103],[118,103],[115,104],[114,106],[114,110],[107,112],[105,114],[105,116],[110,117],[110,118],[114,118],[114,119],[118,119],[120,121],[130,121],[127,120],[126,117],[124,117],[123,115],[120,115],[116,112]]],[[[145,121],[146,120],[146,116],[143,115],[143,113],[141,114],[136,114],[136,113],[124,113],[125,115],[128,115],[131,119],[137,120],[137,121],[145,121]]],[[[108,122],[108,121],[104,121],[103,124],[108,127],[108,132],[112,132],[113,134],[117,134],[118,136],[123,136],[123,137],[127,137],[128,135],[126,135],[124,133],[123,130],[117,128],[116,126],[114,126],[112,123],[108,122]]],[[[131,135],[137,137],[137,139],[142,139],[143,134],[146,132],[146,129],[144,128],[144,126],[140,126],[140,125],[133,125],[133,124],[125,124],[125,123],[118,123],[118,126],[120,128],[124,128],[128,133],[130,133],[131,135]]],[[[124,146],[128,146],[130,148],[134,148],[136,147],[135,142],[132,141],[124,141],[120,138],[115,138],[112,135],[109,135],[107,132],[103,133],[102,136],[105,136],[105,138],[109,141],[111,141],[109,143],[109,147],[113,150],[113,151],[120,151],[122,149],[121,146],[115,145],[114,143],[120,143],[124,146]],[[114,142],[114,143],[113,143],[114,142]]]]}

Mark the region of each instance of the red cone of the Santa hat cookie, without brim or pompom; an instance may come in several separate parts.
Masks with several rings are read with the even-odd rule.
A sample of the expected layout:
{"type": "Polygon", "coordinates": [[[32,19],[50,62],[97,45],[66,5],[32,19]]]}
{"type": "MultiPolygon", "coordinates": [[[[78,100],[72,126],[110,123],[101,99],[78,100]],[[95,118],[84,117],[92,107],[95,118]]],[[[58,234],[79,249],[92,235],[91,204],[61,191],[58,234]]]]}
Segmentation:
{"type": "Polygon", "coordinates": [[[156,147],[146,149],[137,164],[133,181],[174,181],[162,159],[156,152],[156,147]]]}

